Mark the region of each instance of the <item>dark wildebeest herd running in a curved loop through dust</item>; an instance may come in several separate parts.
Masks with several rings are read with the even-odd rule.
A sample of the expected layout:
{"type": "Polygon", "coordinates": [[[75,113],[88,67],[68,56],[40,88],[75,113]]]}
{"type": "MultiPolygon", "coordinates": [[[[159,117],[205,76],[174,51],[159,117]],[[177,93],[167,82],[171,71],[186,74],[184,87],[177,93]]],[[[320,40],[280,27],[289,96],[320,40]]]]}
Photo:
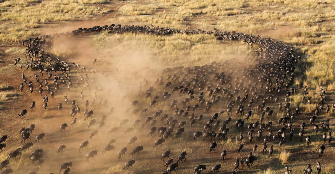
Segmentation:
{"type": "MultiPolygon", "coordinates": [[[[25,63],[22,65],[20,57],[14,60],[14,65],[19,65],[21,69],[36,72],[34,74],[35,79],[27,79],[25,74],[21,73],[22,83],[20,84],[21,91],[29,89],[30,93],[35,93],[34,87],[38,86],[38,93],[43,97],[42,104],[45,110],[49,109],[49,96],[51,100],[54,100],[55,95],[64,96],[64,104],[71,105],[72,109],[69,111],[70,116],[73,117],[71,126],[74,126],[77,122],[77,116],[81,115],[80,107],[77,102],[78,99],[71,99],[69,102],[67,98],[67,92],[76,90],[80,93],[80,98],[83,100],[85,98],[84,94],[93,93],[91,86],[94,83],[93,79],[89,80],[90,73],[97,73],[94,68],[86,68],[79,63],[68,63],[64,60],[51,56],[49,53],[45,53],[44,49],[51,47],[51,43],[54,39],[58,37],[80,37],[86,34],[94,34],[100,32],[108,32],[111,34],[117,33],[141,33],[147,35],[173,35],[173,34],[187,34],[187,35],[214,35],[218,40],[225,41],[241,41],[246,43],[251,47],[255,47],[255,55],[253,59],[248,60],[244,66],[234,65],[234,61],[225,62],[211,62],[203,66],[194,67],[184,67],[177,66],[173,68],[165,68],[161,71],[161,76],[155,81],[148,81],[143,79],[138,86],[138,95],[130,96],[133,97],[133,102],[131,102],[129,108],[134,108],[133,110],[127,109],[126,112],[129,114],[137,115],[138,119],[131,120],[130,118],[125,118],[119,123],[119,126],[112,127],[109,129],[107,135],[114,135],[116,133],[122,133],[120,130],[125,129],[124,134],[133,132],[137,130],[141,133],[146,133],[147,137],[151,137],[153,146],[144,147],[142,145],[136,146],[130,152],[132,158],[125,163],[125,170],[132,170],[134,165],[140,165],[135,163],[136,158],[141,158],[139,154],[141,151],[151,151],[153,148],[161,149],[163,144],[167,144],[169,138],[174,136],[174,138],[184,136],[184,132],[188,132],[192,126],[203,127],[203,130],[198,130],[193,133],[193,138],[191,140],[198,141],[198,139],[203,139],[204,143],[208,144],[208,140],[213,141],[209,143],[209,148],[206,149],[207,153],[215,153],[220,145],[220,141],[226,140],[229,136],[229,130],[237,129],[239,134],[236,139],[240,141],[238,147],[236,147],[236,152],[240,154],[245,149],[245,146],[252,146],[253,151],[249,153],[247,157],[231,157],[231,152],[223,150],[220,155],[217,156],[217,165],[212,166],[212,173],[219,173],[221,166],[225,162],[227,157],[236,158],[235,164],[230,164],[232,173],[238,173],[239,169],[244,167],[251,167],[253,163],[257,163],[256,154],[258,143],[262,144],[262,153],[268,153],[271,157],[274,153],[274,144],[279,144],[278,151],[284,146],[286,141],[291,141],[296,132],[292,124],[297,120],[300,115],[299,106],[291,106],[290,100],[291,96],[302,93],[304,96],[304,101],[307,104],[312,104],[312,99],[308,97],[309,91],[308,86],[298,86],[302,89],[294,89],[293,81],[295,77],[295,67],[298,61],[300,61],[301,56],[294,52],[293,47],[287,46],[283,43],[278,43],[271,38],[263,38],[261,36],[247,35],[244,33],[237,32],[226,32],[226,31],[188,31],[188,30],[173,30],[171,28],[153,27],[153,26],[121,26],[121,25],[105,25],[105,26],[94,26],[91,28],[78,28],[78,30],[55,35],[45,35],[42,37],[36,37],[29,39],[27,42],[22,43],[26,45],[26,57],[25,63]],[[233,65],[231,67],[228,65],[233,65]],[[24,68],[23,68],[24,67],[24,68]],[[225,69],[225,70],[222,70],[225,69]],[[84,75],[75,76],[72,75],[72,71],[77,71],[79,73],[86,73],[84,75]],[[47,78],[43,76],[47,75],[47,78]],[[40,80],[43,77],[45,79],[40,80]],[[36,82],[33,82],[36,81],[36,82]],[[53,89],[52,89],[53,87],[53,89]],[[66,89],[67,88],[67,89],[66,89]],[[64,90],[65,89],[65,90],[64,90]],[[59,91],[60,90],[60,91],[59,91]],[[82,92],[84,90],[84,92],[82,92]],[[305,96],[308,97],[305,99],[305,96]],[[139,98],[150,99],[147,103],[141,103],[139,98]],[[179,100],[177,100],[179,98],[179,100]],[[182,98],[182,100],[180,100],[182,98]],[[280,98],[285,98],[285,100],[280,100],[280,98]],[[77,103],[76,103],[77,102],[77,103]],[[157,105],[162,103],[161,106],[167,106],[159,108],[159,110],[153,110],[157,108],[157,105]],[[282,103],[284,103],[282,106],[282,103]],[[245,105],[246,112],[244,110],[245,105]],[[275,107],[273,107],[275,105],[275,107]],[[163,108],[168,108],[163,110],[163,108]],[[213,111],[215,109],[215,111],[213,111]],[[293,110],[292,110],[293,109],[293,110]],[[141,111],[141,113],[140,113],[141,111]],[[233,114],[236,111],[236,114],[233,114]],[[147,112],[152,113],[152,116],[143,117],[147,112]],[[174,114],[169,114],[169,112],[174,114]],[[214,112],[212,116],[208,115],[209,112],[214,112]],[[274,114],[285,113],[284,117],[278,119],[277,126],[273,124],[274,114]],[[252,117],[257,118],[258,121],[252,122],[252,117]],[[267,121],[265,121],[267,120],[267,121]],[[235,121],[234,126],[231,125],[231,121],[235,121]],[[133,123],[131,127],[125,128],[125,125],[133,123]],[[246,124],[245,124],[246,123],[246,124]],[[176,127],[177,126],[177,127],[176,127]],[[277,131],[277,133],[275,132],[277,131]],[[158,135],[156,135],[158,132],[158,135]],[[266,135],[264,136],[263,133],[266,135]],[[286,138],[287,134],[290,138],[286,138]],[[158,137],[159,136],[159,137],[158,137]],[[248,136],[248,143],[244,143],[243,140],[248,136]],[[254,139],[254,136],[257,138],[254,139]],[[207,140],[207,141],[205,141],[207,140]],[[256,142],[255,142],[256,141],[256,142]],[[255,143],[253,143],[255,142],[255,143]],[[272,142],[272,144],[268,144],[272,142]],[[252,144],[253,143],[253,144],[252,144]]],[[[93,66],[96,66],[97,59],[93,60],[93,66]]],[[[30,72],[26,72],[30,73],[30,72]]],[[[134,76],[137,76],[136,74],[134,76]]],[[[104,78],[108,78],[106,73],[103,73],[104,78]]],[[[138,77],[137,77],[138,78],[138,77]]],[[[102,86],[98,85],[98,90],[102,91],[102,86]]],[[[321,89],[320,100],[318,101],[318,107],[315,108],[315,113],[310,119],[310,124],[306,124],[305,120],[302,120],[300,124],[300,132],[298,133],[299,140],[310,144],[315,139],[312,139],[310,135],[304,135],[304,130],[310,125],[312,129],[318,133],[323,131],[323,140],[327,143],[322,144],[319,148],[319,155],[317,157],[322,157],[326,151],[326,147],[331,146],[332,132],[330,131],[330,119],[326,121],[320,120],[320,124],[315,123],[318,116],[322,114],[328,114],[330,112],[330,104],[324,103],[324,97],[326,92],[321,89]],[[325,107],[325,108],[324,108],[325,107]],[[320,129],[319,129],[320,128],[320,129]]],[[[79,145],[79,151],[87,149],[89,142],[94,136],[107,136],[100,135],[100,130],[105,126],[105,122],[108,121],[109,117],[113,114],[113,106],[109,106],[107,99],[97,99],[97,94],[94,92],[93,98],[86,98],[84,100],[83,112],[84,120],[88,121],[88,129],[90,127],[96,127],[89,135],[88,140],[84,141],[79,145]],[[92,118],[95,111],[92,106],[101,105],[110,108],[100,120],[92,118]]],[[[36,109],[35,104],[40,102],[33,101],[30,105],[30,110],[36,109]]],[[[57,109],[59,112],[63,111],[63,103],[59,103],[57,109]]],[[[28,106],[27,106],[28,107],[28,106]]],[[[335,104],[332,104],[335,108],[335,104]]],[[[58,111],[57,111],[58,112],[58,111]]],[[[67,111],[66,111],[67,113],[67,111]]],[[[20,119],[24,119],[27,114],[27,109],[22,108],[22,112],[18,114],[20,119]]],[[[110,120],[111,121],[111,120],[110,120]]],[[[35,124],[29,127],[22,127],[20,130],[20,135],[22,137],[21,143],[25,143],[26,140],[30,140],[31,134],[35,130],[35,124]]],[[[60,131],[66,131],[68,124],[65,122],[60,125],[60,131]]],[[[36,141],[43,141],[43,137],[48,136],[47,133],[41,133],[36,136],[36,141]]],[[[6,147],[6,139],[11,138],[10,136],[4,135],[0,142],[0,150],[6,147]]],[[[124,144],[124,148],[118,152],[114,151],[114,143],[116,139],[111,139],[107,146],[101,147],[102,153],[110,154],[111,151],[115,156],[118,156],[120,162],[126,158],[126,153],[129,146],[134,146],[137,141],[137,136],[132,137],[127,144],[124,144]]],[[[23,144],[20,148],[9,153],[8,158],[0,164],[1,173],[9,174],[13,172],[13,169],[7,167],[10,165],[10,161],[15,160],[22,154],[22,151],[28,150],[33,146],[34,142],[27,142],[23,144]],[[3,168],[6,168],[3,170],[3,168]]],[[[57,150],[57,153],[63,153],[66,149],[66,144],[62,144],[57,150]]],[[[311,149],[313,150],[313,149],[311,149]]],[[[313,150],[314,151],[314,150],[313,150]]],[[[165,151],[161,155],[162,172],[164,174],[171,174],[173,171],[177,173],[178,167],[187,163],[187,156],[192,155],[187,151],[183,151],[177,159],[170,158],[171,150],[165,151]],[[165,158],[169,160],[165,162],[165,158]],[[164,168],[165,167],[165,168],[164,168]]],[[[99,156],[97,150],[92,149],[85,156],[85,160],[89,162],[90,160],[95,160],[95,156],[99,156]]],[[[130,157],[129,157],[130,158],[130,157]]],[[[31,153],[30,160],[36,166],[35,169],[29,171],[29,174],[38,173],[40,166],[44,163],[43,149],[34,150],[31,153]]],[[[83,159],[84,160],[84,159],[83,159]]],[[[47,162],[47,161],[46,161],[47,162]]],[[[311,174],[312,170],[321,173],[322,167],[321,163],[317,162],[316,166],[311,164],[306,164],[307,168],[304,171],[294,171],[296,173],[305,172],[311,174]]],[[[257,165],[257,164],[256,164],[257,165]]],[[[60,165],[59,173],[68,174],[70,173],[70,168],[72,166],[72,161],[68,161],[60,165]]],[[[194,174],[199,174],[206,170],[206,161],[194,167],[194,174]]],[[[192,169],[190,169],[192,170],[192,169]]],[[[291,174],[292,170],[288,167],[283,169],[283,173],[291,174]]]]}

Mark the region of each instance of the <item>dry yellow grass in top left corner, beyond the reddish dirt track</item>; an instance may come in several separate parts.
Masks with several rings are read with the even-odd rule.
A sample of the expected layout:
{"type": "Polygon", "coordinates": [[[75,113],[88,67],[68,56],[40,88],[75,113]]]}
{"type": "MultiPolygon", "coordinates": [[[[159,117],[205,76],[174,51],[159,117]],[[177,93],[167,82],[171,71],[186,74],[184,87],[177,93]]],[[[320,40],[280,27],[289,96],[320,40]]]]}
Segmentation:
{"type": "Polygon", "coordinates": [[[38,28],[45,23],[88,19],[95,15],[102,15],[108,12],[108,9],[85,4],[99,4],[107,1],[5,1],[0,4],[0,21],[6,21],[0,26],[0,40],[2,42],[19,42],[39,35],[38,28]]]}

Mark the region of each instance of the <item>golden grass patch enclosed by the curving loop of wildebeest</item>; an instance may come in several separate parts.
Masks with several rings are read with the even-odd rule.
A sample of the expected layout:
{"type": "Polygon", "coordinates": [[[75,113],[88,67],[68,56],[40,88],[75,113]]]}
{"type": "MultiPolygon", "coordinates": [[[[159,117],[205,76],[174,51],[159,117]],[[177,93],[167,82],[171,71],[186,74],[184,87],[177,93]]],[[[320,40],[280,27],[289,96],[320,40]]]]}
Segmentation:
{"type": "MultiPolygon", "coordinates": [[[[93,37],[93,41],[98,45],[98,52],[102,53],[102,58],[114,55],[123,56],[129,48],[142,52],[155,62],[160,62],[166,66],[178,65],[204,65],[212,61],[224,61],[231,58],[244,60],[252,50],[240,43],[226,45],[222,49],[222,44],[209,35],[174,35],[174,36],[147,36],[143,34],[122,34],[106,35],[101,34],[93,37]],[[108,43],[105,45],[105,43],[108,43]],[[104,52],[108,46],[108,52],[104,52]],[[118,51],[117,51],[118,50],[118,51]],[[119,53],[117,53],[119,52],[119,53]],[[183,56],[181,56],[183,55],[183,56]]],[[[118,56],[114,56],[118,57],[118,56]]],[[[113,58],[113,59],[114,59],[113,58]]]]}

